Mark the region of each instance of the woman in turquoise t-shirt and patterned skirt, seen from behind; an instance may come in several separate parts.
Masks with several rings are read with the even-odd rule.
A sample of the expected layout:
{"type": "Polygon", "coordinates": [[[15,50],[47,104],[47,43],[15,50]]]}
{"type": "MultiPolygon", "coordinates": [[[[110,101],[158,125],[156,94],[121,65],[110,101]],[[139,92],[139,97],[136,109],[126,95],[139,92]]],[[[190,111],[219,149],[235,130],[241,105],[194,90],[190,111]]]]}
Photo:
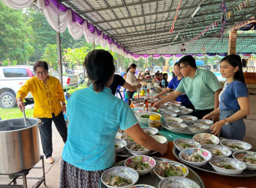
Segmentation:
{"type": "Polygon", "coordinates": [[[125,101],[112,95],[113,56],[106,50],[93,50],[87,54],[84,66],[94,83],[75,91],[67,103],[69,127],[59,187],[98,187],[104,170],[115,163],[115,135],[119,128],[149,150],[161,154],[167,150],[165,144],[143,132],[125,101]]]}

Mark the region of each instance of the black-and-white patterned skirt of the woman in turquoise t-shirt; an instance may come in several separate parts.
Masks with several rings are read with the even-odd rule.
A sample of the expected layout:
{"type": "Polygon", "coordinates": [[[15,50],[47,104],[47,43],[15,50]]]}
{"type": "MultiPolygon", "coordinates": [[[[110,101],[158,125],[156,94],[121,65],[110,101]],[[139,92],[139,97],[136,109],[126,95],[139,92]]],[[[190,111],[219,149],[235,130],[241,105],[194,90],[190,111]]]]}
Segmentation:
{"type": "Polygon", "coordinates": [[[96,188],[102,171],[84,171],[61,160],[60,188],[96,188]]]}

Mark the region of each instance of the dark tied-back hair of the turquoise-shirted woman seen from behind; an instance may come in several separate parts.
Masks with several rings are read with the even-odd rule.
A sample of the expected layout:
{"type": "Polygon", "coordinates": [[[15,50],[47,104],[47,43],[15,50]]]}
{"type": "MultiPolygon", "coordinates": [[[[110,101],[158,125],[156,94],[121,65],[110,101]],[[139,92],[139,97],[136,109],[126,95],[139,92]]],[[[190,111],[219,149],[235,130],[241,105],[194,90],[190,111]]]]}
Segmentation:
{"type": "Polygon", "coordinates": [[[84,66],[89,79],[94,82],[93,89],[96,92],[101,92],[115,73],[113,56],[106,50],[90,51],[84,60],[84,66]]]}

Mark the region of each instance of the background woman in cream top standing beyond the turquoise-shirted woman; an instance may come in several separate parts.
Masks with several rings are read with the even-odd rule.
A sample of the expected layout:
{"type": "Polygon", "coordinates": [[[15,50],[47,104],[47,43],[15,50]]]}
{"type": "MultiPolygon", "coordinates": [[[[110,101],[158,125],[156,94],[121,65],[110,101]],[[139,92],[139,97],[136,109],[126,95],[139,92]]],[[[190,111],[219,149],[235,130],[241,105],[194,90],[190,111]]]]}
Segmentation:
{"type": "MultiPolygon", "coordinates": [[[[138,86],[139,86],[139,82],[142,81],[140,79],[137,79],[136,76],[135,76],[135,71],[136,71],[136,64],[131,64],[129,66],[129,68],[127,68],[127,76],[126,76],[126,82],[129,83],[130,85],[135,85],[136,86],[136,89],[138,89],[138,86]]],[[[133,98],[133,94],[135,93],[135,91],[129,91],[127,89],[127,95],[128,95],[128,100],[127,100],[127,103],[128,105],[131,105],[131,99],[133,98]]]]}

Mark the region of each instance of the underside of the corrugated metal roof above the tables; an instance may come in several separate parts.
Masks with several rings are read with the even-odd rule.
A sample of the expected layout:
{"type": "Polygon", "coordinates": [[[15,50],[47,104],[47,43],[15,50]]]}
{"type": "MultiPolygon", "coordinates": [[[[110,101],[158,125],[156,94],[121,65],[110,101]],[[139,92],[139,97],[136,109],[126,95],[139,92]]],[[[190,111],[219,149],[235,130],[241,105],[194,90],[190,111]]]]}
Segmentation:
{"type": "MultiPolygon", "coordinates": [[[[228,10],[245,0],[226,0],[228,10]]],[[[249,0],[247,0],[249,1],[249,0]]],[[[61,0],[64,5],[94,24],[133,54],[181,54],[183,43],[197,36],[214,21],[219,25],[186,46],[185,53],[228,52],[228,35],[219,37],[222,13],[217,0],[182,0],[174,31],[169,34],[179,0],[61,0]],[[199,10],[193,13],[200,6],[199,10]],[[184,36],[184,38],[183,38],[184,36]]],[[[256,1],[249,1],[227,19],[225,28],[256,15],[256,1]]],[[[237,52],[256,52],[256,34],[238,35],[237,52]]]]}

